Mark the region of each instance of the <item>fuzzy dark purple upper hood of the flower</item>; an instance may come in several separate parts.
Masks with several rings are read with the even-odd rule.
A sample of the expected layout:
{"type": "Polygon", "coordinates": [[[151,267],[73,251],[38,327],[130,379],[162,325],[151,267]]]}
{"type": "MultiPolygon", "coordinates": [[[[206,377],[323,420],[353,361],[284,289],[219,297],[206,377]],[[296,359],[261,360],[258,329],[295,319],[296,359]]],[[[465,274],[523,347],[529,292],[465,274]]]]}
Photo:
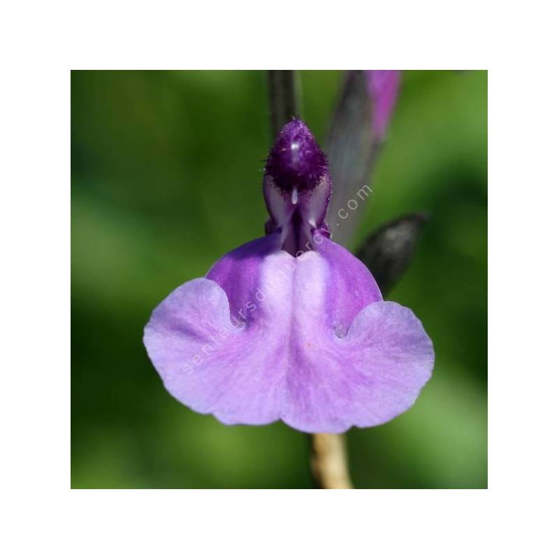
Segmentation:
{"type": "Polygon", "coordinates": [[[284,250],[294,255],[312,249],[316,230],[329,236],[328,161],[304,122],[294,119],[279,132],[266,161],[263,191],[270,214],[266,233],[280,230],[284,250]]]}

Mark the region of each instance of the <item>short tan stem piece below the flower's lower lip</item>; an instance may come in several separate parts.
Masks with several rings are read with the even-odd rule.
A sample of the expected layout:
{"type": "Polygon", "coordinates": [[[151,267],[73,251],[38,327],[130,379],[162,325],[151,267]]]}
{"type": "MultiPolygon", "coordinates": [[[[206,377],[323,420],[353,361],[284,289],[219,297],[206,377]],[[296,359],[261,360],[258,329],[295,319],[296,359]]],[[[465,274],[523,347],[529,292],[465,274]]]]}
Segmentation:
{"type": "Polygon", "coordinates": [[[311,470],[320,489],[352,489],[347,470],[344,435],[314,433],[311,437],[311,470]]]}

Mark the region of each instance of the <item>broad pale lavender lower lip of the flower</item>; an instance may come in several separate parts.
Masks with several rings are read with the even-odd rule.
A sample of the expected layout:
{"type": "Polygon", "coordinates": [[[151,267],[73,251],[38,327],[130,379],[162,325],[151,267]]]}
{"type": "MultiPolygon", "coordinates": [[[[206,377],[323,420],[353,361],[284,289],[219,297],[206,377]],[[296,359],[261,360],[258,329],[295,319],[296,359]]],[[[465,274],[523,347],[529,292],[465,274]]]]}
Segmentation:
{"type": "Polygon", "coordinates": [[[231,291],[235,262],[241,270],[255,265],[251,287],[231,291],[249,296],[245,306],[254,307],[242,327],[231,324],[226,291],[205,278],[173,291],[146,326],[150,358],[175,398],[224,423],[282,419],[326,433],[377,425],[412,405],[430,376],[433,347],[411,311],[365,303],[340,337],[335,322],[345,324],[357,312],[357,304],[344,308],[351,294],[367,298],[351,291],[340,268],[379,298],[367,270],[327,239],[298,258],[262,240],[249,245],[238,259],[231,253],[228,273],[215,275],[231,291]],[[259,253],[260,266],[258,250],[270,251],[259,253]]]}

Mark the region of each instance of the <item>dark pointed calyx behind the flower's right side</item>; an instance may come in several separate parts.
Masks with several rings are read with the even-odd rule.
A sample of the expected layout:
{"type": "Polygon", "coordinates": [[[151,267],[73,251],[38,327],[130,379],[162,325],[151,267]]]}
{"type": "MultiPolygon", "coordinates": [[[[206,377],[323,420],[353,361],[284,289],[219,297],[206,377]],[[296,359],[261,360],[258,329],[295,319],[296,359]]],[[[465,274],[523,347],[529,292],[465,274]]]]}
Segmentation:
{"type": "Polygon", "coordinates": [[[373,233],[358,249],[357,257],[371,270],[383,295],[398,282],[414,257],[424,213],[405,215],[373,233]]]}

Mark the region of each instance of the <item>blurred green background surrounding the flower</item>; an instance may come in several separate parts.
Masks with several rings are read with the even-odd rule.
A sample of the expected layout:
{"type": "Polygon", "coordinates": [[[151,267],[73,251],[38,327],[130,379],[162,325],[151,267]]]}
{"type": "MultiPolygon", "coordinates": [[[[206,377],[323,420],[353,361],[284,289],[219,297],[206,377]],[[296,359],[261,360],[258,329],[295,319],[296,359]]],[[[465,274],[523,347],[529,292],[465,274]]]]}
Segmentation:
{"type": "MultiPolygon", "coordinates": [[[[324,145],[342,75],[305,71],[324,145]]],[[[310,488],[307,436],[222,426],[164,390],[142,343],[179,284],[263,233],[270,145],[257,71],[73,71],[73,488],[310,488]]],[[[433,379],[384,426],[348,433],[361,488],[487,484],[487,74],[408,71],[360,238],[431,219],[391,300],[435,344],[433,379]]]]}

